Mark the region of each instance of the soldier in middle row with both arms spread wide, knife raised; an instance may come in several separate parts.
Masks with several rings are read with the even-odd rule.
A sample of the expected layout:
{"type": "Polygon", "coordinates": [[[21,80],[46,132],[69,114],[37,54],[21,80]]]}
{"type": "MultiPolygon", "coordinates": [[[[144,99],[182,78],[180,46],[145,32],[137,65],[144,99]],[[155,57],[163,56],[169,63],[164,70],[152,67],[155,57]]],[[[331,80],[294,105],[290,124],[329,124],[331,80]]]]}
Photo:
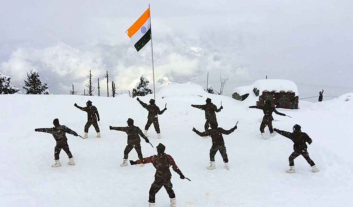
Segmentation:
{"type": "Polygon", "coordinates": [[[211,129],[207,129],[205,132],[199,132],[196,130],[196,128],[192,128],[192,131],[196,132],[198,136],[201,137],[207,137],[210,136],[212,138],[212,146],[210,149],[210,166],[207,167],[209,170],[214,170],[216,169],[215,165],[215,155],[217,151],[220,151],[223,162],[224,162],[224,167],[229,170],[229,165],[228,165],[228,156],[227,156],[227,150],[226,146],[224,144],[223,136],[222,134],[230,134],[234,132],[234,130],[237,129],[237,126],[234,126],[230,130],[225,130],[221,127],[218,127],[218,124],[216,121],[210,121],[211,124],[211,129]]]}

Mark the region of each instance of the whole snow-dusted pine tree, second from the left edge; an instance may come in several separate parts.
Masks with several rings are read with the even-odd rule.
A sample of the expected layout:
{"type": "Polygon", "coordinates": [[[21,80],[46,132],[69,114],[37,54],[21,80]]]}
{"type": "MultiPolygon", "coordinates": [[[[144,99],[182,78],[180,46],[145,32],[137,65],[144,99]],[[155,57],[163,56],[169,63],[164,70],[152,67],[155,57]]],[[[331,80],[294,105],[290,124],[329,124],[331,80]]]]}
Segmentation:
{"type": "Polygon", "coordinates": [[[36,69],[32,69],[29,74],[27,73],[27,81],[24,81],[24,85],[22,88],[26,90],[26,94],[42,94],[48,89],[47,83],[43,84],[39,79],[36,69]]]}

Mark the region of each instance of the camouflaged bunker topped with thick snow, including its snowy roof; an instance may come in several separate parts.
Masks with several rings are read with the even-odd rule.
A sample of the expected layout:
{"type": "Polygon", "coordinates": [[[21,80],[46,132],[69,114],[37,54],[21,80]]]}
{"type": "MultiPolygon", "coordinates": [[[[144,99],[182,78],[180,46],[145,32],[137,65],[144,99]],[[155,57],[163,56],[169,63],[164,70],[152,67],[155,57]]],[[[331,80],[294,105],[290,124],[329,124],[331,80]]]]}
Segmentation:
{"type": "Polygon", "coordinates": [[[248,96],[259,96],[257,106],[262,106],[266,100],[271,100],[276,108],[298,109],[298,87],[289,80],[257,80],[250,86],[242,86],[233,90],[233,99],[243,101],[248,96]]]}

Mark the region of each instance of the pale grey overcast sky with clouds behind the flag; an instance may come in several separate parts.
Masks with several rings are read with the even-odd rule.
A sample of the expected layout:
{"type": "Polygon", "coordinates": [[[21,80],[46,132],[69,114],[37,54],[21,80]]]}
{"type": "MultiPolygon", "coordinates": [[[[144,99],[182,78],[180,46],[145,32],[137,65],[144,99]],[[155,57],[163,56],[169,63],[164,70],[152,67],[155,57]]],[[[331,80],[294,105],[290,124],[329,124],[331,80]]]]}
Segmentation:
{"type": "MultiPolygon", "coordinates": [[[[100,52],[93,48],[107,44],[129,47],[124,53],[126,59],[117,60],[112,73],[150,77],[150,63],[134,64],[126,57],[150,55],[150,46],[139,52],[142,56],[136,56],[125,34],[148,3],[154,47],[161,54],[156,62],[158,78],[173,76],[178,81],[193,80],[205,87],[209,73],[209,84],[217,89],[222,73],[229,77],[224,95],[266,75],[294,81],[301,98],[316,96],[321,89],[327,96],[353,92],[351,0],[1,0],[0,70],[12,76],[18,87],[38,62],[50,65],[51,69],[36,68],[45,75],[43,81],[47,83],[84,78],[90,69],[102,75],[106,70],[104,51],[102,47],[100,52]],[[75,51],[53,55],[59,43],[75,51]],[[209,55],[184,56],[179,51],[181,45],[202,48],[209,55]],[[165,51],[174,52],[163,55],[165,51]],[[75,57],[77,54],[80,55],[75,57]],[[61,64],[66,64],[63,59],[67,62],[81,56],[84,61],[79,67],[61,68],[61,64]],[[215,56],[221,60],[209,58],[215,56]]],[[[133,78],[114,80],[121,92],[137,82],[133,78]]],[[[75,84],[82,89],[85,82],[75,84]]],[[[70,86],[70,81],[53,84],[52,88],[49,84],[49,90],[67,93],[70,86]]]]}

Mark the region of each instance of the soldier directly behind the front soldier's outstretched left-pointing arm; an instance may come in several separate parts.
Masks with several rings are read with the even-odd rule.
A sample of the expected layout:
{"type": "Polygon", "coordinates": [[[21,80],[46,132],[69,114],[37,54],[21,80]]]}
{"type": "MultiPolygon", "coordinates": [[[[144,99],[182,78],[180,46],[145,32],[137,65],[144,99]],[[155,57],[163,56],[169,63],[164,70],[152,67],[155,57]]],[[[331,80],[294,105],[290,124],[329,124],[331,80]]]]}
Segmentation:
{"type": "MultiPolygon", "coordinates": [[[[126,148],[124,150],[124,161],[122,162],[120,167],[127,166],[128,154],[129,154],[129,152],[131,152],[131,150],[133,148],[135,148],[138,158],[140,160],[143,159],[142,152],[141,152],[141,145],[140,145],[141,139],[140,139],[139,136],[144,138],[146,143],[150,143],[150,141],[142,133],[142,131],[141,131],[141,129],[139,127],[133,125],[133,119],[130,119],[130,118],[127,119],[127,127],[113,127],[113,126],[109,126],[109,129],[110,130],[123,131],[123,132],[126,132],[126,134],[127,134],[127,145],[126,145],[126,148]]],[[[140,166],[143,166],[143,164],[140,165],[140,166]]]]}

